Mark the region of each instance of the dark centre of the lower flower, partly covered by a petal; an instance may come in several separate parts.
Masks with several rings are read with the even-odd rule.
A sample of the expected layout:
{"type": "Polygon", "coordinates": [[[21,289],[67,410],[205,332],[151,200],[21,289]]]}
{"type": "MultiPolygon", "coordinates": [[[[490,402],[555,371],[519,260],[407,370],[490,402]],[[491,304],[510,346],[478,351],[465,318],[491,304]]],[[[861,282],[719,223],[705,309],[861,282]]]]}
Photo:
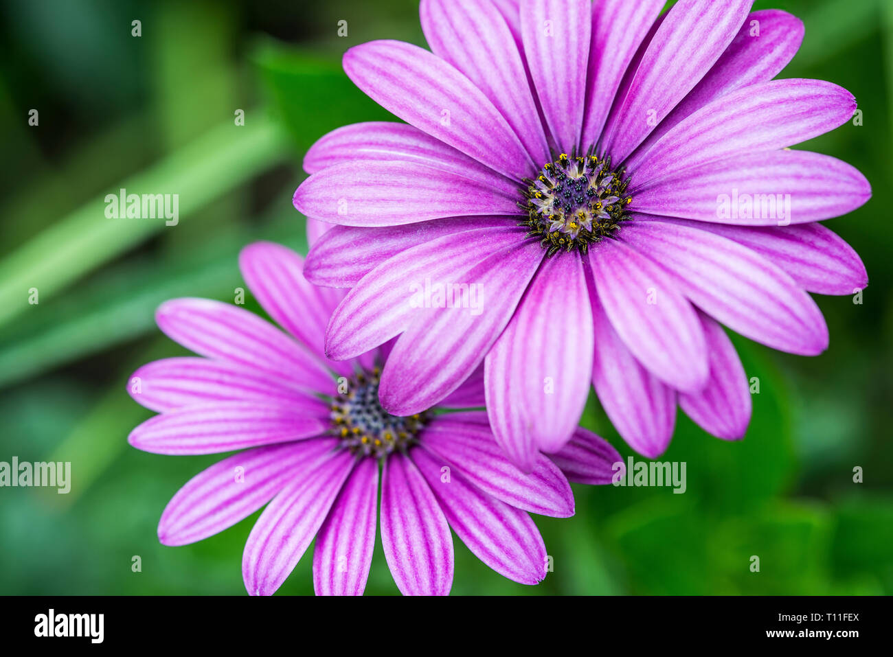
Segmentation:
{"type": "Polygon", "coordinates": [[[342,381],[330,413],[332,433],[340,438],[341,446],[374,458],[385,457],[397,449],[405,451],[418,442],[419,432],[430,418],[428,412],[400,417],[381,408],[380,380],[380,369],[375,368],[342,381]]]}

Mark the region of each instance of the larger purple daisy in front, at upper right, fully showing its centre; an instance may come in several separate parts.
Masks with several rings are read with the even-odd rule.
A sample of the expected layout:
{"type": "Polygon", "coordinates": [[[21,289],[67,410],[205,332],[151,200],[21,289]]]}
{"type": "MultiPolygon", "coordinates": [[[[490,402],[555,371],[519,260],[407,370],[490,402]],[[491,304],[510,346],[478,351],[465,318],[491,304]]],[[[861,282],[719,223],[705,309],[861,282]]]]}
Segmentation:
{"type": "Polygon", "coordinates": [[[347,75],[408,125],[322,137],[294,204],[338,224],[305,268],[352,287],[330,357],[398,337],[381,376],[389,412],[428,408],[482,367],[494,434],[530,470],[572,437],[591,381],[654,457],[677,403],[714,436],[744,435],[747,378],[722,325],[789,353],[827,347],[808,293],[852,294],[867,276],[817,222],[871,187],[789,146],[851,119],[855,99],[773,79],[804,34],[789,13],[663,4],[422,0],[433,52],[375,41],[345,54],[347,75]],[[430,281],[480,286],[481,312],[407,303],[430,281]]]}

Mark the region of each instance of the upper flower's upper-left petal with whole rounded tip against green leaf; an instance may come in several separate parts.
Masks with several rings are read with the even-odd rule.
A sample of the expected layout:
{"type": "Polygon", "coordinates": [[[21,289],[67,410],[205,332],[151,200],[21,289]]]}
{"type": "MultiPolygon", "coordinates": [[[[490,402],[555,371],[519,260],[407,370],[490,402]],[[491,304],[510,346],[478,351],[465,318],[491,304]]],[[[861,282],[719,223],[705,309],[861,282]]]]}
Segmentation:
{"type": "Polygon", "coordinates": [[[372,41],[346,52],[344,71],[388,112],[494,170],[519,180],[536,170],[488,97],[437,55],[372,41]]]}

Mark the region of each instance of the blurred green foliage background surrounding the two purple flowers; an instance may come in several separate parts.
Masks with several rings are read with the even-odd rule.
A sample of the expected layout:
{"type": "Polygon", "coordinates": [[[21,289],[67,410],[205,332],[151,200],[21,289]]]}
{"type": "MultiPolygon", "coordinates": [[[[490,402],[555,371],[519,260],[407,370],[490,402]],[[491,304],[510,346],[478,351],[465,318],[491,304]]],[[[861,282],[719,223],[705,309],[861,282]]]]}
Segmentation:
{"type": "MultiPolygon", "coordinates": [[[[501,578],[456,540],[455,594],[893,593],[893,7],[755,8],[773,6],[806,25],[781,77],[836,82],[864,112],[863,126],[807,146],[872,181],[869,204],[828,222],[868,268],[863,304],[819,297],[831,343],[817,358],[737,339],[761,382],[751,428],[724,443],[680,413],[662,460],[687,462],[684,495],[576,487],[574,518],[538,519],[555,560],[543,584],[501,578]]],[[[130,448],[129,430],[151,413],[125,382],[139,364],[184,353],[154,328],[157,304],[231,300],[249,241],[305,250],[290,201],[306,148],[339,125],[387,118],[340,56],[375,38],[423,44],[417,4],[3,2],[0,32],[0,461],[73,470],[69,495],[0,489],[0,594],[243,594],[256,514],[196,545],[158,544],[165,503],[218,457],[130,448]],[[179,225],[105,219],[104,195],[120,187],[178,193],[179,225]]],[[[585,423],[630,453],[597,403],[585,423]]],[[[312,593],[310,562],[308,552],[282,594],[312,593]]],[[[396,593],[380,548],[368,592],[396,593]]]]}

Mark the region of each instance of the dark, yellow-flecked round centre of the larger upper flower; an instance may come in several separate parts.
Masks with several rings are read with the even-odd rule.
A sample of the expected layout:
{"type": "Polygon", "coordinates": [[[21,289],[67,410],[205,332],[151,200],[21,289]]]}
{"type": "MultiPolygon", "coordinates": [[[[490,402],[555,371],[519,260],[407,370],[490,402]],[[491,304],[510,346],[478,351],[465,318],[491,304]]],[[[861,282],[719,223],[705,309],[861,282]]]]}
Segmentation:
{"type": "Polygon", "coordinates": [[[586,254],[590,244],[610,237],[627,220],[630,179],[622,169],[611,168],[611,157],[568,157],[547,162],[537,179],[525,179],[524,202],[528,213],[522,226],[528,237],[538,237],[548,255],[578,249],[586,254]]]}

